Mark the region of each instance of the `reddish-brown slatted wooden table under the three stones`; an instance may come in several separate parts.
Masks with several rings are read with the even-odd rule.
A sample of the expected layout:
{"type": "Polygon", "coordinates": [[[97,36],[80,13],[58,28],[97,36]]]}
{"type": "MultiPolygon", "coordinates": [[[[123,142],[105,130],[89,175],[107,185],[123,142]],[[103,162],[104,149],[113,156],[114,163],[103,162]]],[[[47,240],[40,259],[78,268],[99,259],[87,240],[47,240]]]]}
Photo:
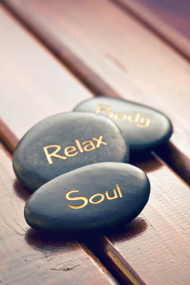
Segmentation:
{"type": "Polygon", "coordinates": [[[0,283],[190,284],[190,4],[158,0],[2,0],[0,283]],[[120,232],[68,240],[32,230],[30,192],[11,154],[24,133],[95,95],[170,117],[170,141],[130,163],[151,183],[120,232]]]}

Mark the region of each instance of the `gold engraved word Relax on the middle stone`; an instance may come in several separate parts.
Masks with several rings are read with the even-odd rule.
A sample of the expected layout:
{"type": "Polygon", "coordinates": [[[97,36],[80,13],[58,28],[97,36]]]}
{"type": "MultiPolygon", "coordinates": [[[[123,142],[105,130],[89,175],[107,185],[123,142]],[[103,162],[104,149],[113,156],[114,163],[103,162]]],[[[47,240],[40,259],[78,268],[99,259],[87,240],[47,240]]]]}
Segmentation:
{"type": "MultiPolygon", "coordinates": [[[[94,144],[94,142],[92,140],[85,140],[82,142],[84,149],[83,149],[81,143],[79,142],[79,140],[75,139],[75,143],[77,145],[79,152],[84,152],[84,150],[85,151],[91,151],[97,147],[100,147],[101,144],[107,145],[106,142],[102,141],[103,135],[100,135],[98,139],[96,137],[93,137],[92,139],[93,139],[93,141],[96,142],[96,145],[94,144]]],[[[58,152],[61,149],[61,146],[59,144],[51,144],[51,145],[44,146],[44,152],[46,154],[46,158],[47,158],[49,164],[52,164],[53,163],[52,156],[57,157],[57,158],[61,158],[61,159],[67,159],[67,156],[70,157],[70,156],[77,155],[77,153],[78,153],[77,148],[74,145],[66,146],[64,149],[64,154],[65,154],[65,156],[64,156],[64,155],[58,154],[58,152]],[[56,150],[54,150],[53,152],[48,152],[48,148],[52,148],[52,147],[56,147],[56,150]]]]}

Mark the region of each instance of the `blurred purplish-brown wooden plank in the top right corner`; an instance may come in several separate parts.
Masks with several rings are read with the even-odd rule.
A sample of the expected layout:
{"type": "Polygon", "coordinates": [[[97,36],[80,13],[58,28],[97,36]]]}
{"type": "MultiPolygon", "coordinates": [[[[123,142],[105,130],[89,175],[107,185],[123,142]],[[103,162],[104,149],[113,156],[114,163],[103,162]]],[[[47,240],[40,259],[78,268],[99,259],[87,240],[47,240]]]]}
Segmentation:
{"type": "Polygon", "coordinates": [[[111,0],[190,60],[189,0],[111,0]]]}

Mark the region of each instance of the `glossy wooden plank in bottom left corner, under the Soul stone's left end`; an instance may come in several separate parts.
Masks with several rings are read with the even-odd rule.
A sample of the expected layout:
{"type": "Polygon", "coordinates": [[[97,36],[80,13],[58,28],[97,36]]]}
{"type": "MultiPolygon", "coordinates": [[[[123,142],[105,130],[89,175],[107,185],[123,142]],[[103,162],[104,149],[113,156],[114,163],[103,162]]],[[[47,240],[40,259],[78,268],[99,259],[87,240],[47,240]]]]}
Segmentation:
{"type": "Polygon", "coordinates": [[[24,220],[30,193],[15,179],[11,156],[0,144],[2,284],[118,284],[82,243],[40,234],[24,220]]]}

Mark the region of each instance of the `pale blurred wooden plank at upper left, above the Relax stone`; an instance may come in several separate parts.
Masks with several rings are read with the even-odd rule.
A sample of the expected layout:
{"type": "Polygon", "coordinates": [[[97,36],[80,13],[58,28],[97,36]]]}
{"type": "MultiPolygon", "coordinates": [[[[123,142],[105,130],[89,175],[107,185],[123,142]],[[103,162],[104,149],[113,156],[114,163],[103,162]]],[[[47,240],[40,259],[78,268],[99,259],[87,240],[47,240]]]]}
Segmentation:
{"type": "Polygon", "coordinates": [[[21,138],[44,117],[71,111],[92,93],[19,26],[2,6],[0,115],[21,138]]]}

